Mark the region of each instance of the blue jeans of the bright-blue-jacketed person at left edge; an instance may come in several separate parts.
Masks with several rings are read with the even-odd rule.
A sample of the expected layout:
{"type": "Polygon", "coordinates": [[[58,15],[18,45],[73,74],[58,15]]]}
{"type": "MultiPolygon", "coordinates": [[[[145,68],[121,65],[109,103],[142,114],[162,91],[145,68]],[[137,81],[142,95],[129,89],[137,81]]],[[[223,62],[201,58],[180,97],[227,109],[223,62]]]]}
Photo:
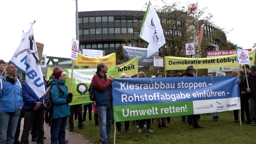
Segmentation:
{"type": "Polygon", "coordinates": [[[20,118],[20,109],[16,112],[0,112],[0,144],[12,144],[20,118]]]}

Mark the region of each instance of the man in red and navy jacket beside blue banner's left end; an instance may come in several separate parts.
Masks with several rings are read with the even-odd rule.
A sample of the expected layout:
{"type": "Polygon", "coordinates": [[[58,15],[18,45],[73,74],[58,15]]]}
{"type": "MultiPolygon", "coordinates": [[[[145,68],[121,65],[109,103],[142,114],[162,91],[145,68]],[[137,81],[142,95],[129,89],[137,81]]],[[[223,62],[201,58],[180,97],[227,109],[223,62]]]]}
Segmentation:
{"type": "Polygon", "coordinates": [[[100,139],[104,144],[110,142],[110,131],[113,119],[112,87],[111,83],[115,80],[114,76],[109,79],[106,75],[108,66],[104,62],[97,65],[96,75],[92,77],[92,86],[95,88],[95,102],[100,118],[100,139]]]}

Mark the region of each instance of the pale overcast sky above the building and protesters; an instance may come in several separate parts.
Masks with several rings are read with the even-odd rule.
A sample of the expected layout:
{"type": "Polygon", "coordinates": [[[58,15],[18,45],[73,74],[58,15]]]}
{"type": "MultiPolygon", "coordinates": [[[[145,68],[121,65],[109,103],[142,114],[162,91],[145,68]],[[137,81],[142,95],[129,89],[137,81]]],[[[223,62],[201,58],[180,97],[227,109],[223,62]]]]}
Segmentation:
{"type": "MultiPolygon", "coordinates": [[[[168,1],[168,0],[167,0],[168,1]]],[[[78,12],[103,10],[142,10],[149,0],[78,0],[78,12]]],[[[173,1],[171,1],[173,2],[173,1]]],[[[189,1],[196,3],[196,1],[189,1]]],[[[225,30],[227,40],[252,48],[255,39],[256,1],[198,0],[198,9],[208,6],[213,24],[225,30]]],[[[153,5],[160,0],[151,0],[153,5]]],[[[186,2],[184,2],[186,6],[186,2]]],[[[145,11],[145,9],[144,9],[145,11]]],[[[20,44],[22,30],[27,31],[30,22],[36,42],[44,44],[43,54],[70,58],[72,37],[76,38],[75,0],[2,0],[0,2],[1,52],[0,59],[9,61],[20,44]]],[[[185,46],[184,46],[185,47],[185,46]]]]}

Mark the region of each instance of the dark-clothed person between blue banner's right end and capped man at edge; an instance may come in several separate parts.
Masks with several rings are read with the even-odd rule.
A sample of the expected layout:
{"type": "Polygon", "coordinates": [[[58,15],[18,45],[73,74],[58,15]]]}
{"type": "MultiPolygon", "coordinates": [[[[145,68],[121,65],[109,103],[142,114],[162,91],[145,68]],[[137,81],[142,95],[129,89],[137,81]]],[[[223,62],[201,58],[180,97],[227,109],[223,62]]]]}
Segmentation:
{"type": "Polygon", "coordinates": [[[249,112],[249,95],[246,92],[246,88],[243,89],[243,83],[244,83],[244,77],[245,75],[249,74],[249,70],[250,66],[249,65],[245,65],[245,67],[243,66],[243,72],[240,74],[239,76],[239,87],[240,87],[240,100],[241,100],[241,119],[242,122],[246,122],[244,119],[244,112],[245,112],[245,116],[246,116],[246,124],[251,124],[251,119],[250,119],[250,112],[249,112]]]}

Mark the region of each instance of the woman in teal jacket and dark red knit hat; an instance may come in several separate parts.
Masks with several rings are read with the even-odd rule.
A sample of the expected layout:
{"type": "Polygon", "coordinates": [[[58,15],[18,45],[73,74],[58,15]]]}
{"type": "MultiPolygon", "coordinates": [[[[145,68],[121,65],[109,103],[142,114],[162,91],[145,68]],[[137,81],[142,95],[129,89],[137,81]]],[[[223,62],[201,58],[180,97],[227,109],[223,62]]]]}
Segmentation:
{"type": "Polygon", "coordinates": [[[53,102],[52,125],[51,125],[51,144],[65,144],[65,128],[67,126],[69,105],[73,94],[68,93],[65,86],[67,73],[64,71],[54,71],[52,80],[51,96],[53,102]],[[61,89],[61,92],[59,90],[61,89]]]}

